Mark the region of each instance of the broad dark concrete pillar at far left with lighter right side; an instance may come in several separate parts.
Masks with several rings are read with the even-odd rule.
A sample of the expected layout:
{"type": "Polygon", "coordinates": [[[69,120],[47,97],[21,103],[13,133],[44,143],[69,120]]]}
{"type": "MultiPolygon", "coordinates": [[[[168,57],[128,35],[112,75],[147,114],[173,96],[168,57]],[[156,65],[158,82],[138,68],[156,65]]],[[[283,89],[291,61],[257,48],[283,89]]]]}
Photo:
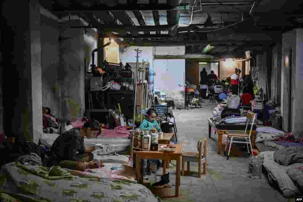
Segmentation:
{"type": "Polygon", "coordinates": [[[3,53],[3,105],[5,133],[23,136],[38,143],[42,128],[42,82],[39,1],[2,2],[6,30],[2,43],[10,42],[3,53]]]}

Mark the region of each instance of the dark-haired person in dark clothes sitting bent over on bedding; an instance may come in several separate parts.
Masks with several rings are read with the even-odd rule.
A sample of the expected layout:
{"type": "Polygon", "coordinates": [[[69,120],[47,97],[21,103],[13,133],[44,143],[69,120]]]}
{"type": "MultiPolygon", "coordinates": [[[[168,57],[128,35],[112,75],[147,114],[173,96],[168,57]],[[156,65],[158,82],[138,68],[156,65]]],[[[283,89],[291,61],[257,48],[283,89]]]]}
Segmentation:
{"type": "Polygon", "coordinates": [[[82,128],[72,128],[57,137],[50,148],[49,166],[60,166],[77,171],[85,171],[86,167],[96,168],[92,160],[93,151],[102,149],[102,144],[93,147],[84,146],[84,137],[93,138],[101,133],[99,122],[87,121],[82,128]]]}

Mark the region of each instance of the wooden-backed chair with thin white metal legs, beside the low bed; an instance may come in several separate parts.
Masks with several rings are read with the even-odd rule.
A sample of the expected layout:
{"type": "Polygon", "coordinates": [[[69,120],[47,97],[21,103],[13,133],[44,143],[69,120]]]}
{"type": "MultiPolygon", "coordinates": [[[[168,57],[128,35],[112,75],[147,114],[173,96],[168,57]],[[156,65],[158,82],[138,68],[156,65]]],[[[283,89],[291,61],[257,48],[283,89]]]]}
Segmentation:
{"type": "MultiPolygon", "coordinates": [[[[227,134],[227,138],[228,140],[230,140],[230,144],[229,144],[229,148],[228,148],[228,154],[227,154],[227,159],[229,158],[229,154],[230,154],[230,149],[231,149],[231,144],[234,142],[234,143],[243,143],[243,144],[246,144],[247,146],[247,150],[249,152],[249,148],[248,148],[248,144],[250,145],[250,150],[251,150],[251,154],[252,154],[252,146],[251,146],[251,139],[250,139],[250,136],[251,136],[251,130],[252,130],[252,127],[254,126],[254,123],[255,123],[255,119],[256,119],[256,113],[253,113],[251,111],[247,111],[247,114],[246,114],[246,127],[245,127],[245,131],[244,132],[225,132],[225,134],[227,134]],[[249,121],[251,121],[251,127],[250,127],[250,131],[249,131],[249,134],[247,134],[247,128],[248,128],[248,124],[249,124],[249,121]]],[[[227,147],[227,144],[225,145],[225,150],[226,150],[226,147],[227,147]]]]}

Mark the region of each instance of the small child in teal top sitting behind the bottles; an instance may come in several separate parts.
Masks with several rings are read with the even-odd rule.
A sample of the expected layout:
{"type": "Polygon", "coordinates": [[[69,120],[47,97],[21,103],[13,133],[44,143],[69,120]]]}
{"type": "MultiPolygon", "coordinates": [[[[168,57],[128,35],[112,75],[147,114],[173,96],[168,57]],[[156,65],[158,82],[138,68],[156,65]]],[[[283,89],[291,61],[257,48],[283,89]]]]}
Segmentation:
{"type": "Polygon", "coordinates": [[[161,132],[161,128],[156,120],[157,118],[157,112],[150,108],[146,112],[146,118],[142,121],[140,125],[140,129],[143,131],[151,131],[153,133],[155,132],[161,132]]]}

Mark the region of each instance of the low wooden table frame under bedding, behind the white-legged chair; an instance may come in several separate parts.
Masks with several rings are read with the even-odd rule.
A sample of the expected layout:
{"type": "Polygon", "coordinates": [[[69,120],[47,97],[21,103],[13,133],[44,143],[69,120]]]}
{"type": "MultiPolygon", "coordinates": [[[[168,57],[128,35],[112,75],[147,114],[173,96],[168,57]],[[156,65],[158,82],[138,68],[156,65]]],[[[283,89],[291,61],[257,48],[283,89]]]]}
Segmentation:
{"type": "MultiPolygon", "coordinates": [[[[218,130],[213,121],[211,121],[209,118],[207,119],[207,121],[208,121],[208,137],[211,138],[211,128],[215,128],[215,130],[218,133],[218,154],[221,154],[222,136],[225,132],[243,132],[245,130],[245,129],[243,129],[241,131],[240,130],[229,130],[229,129],[218,130]]],[[[249,126],[249,128],[250,128],[250,126],[249,126]]],[[[247,133],[249,134],[249,130],[247,131],[247,133]]],[[[251,131],[250,140],[251,140],[252,149],[258,149],[256,147],[256,131],[255,130],[251,131]]]]}

